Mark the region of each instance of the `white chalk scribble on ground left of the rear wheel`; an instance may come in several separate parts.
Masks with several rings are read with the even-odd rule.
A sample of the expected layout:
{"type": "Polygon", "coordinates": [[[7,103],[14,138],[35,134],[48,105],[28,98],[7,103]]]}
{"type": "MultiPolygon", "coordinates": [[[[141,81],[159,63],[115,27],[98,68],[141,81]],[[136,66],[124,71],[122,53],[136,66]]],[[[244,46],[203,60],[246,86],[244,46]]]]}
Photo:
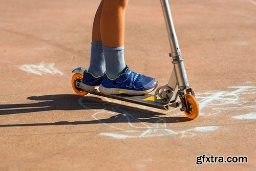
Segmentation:
{"type": "Polygon", "coordinates": [[[26,71],[28,73],[33,73],[33,74],[38,74],[38,75],[42,75],[42,74],[60,74],[63,75],[63,73],[61,71],[59,71],[58,69],[56,69],[54,67],[55,63],[45,63],[45,62],[41,62],[39,63],[39,65],[23,65],[20,66],[19,69],[26,71]]]}

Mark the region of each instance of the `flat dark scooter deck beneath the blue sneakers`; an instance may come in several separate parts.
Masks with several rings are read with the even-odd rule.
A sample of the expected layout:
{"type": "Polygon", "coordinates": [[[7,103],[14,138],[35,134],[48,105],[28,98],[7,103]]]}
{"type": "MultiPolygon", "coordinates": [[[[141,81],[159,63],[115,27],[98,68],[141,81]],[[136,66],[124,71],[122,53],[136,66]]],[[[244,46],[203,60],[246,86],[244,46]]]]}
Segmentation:
{"type": "MultiPolygon", "coordinates": [[[[147,95],[142,95],[142,96],[128,96],[128,95],[104,95],[100,92],[94,92],[91,93],[97,96],[102,96],[102,97],[108,97],[108,98],[112,98],[112,99],[116,99],[116,100],[121,100],[121,101],[126,101],[126,102],[131,102],[131,103],[136,103],[136,104],[140,104],[140,105],[145,105],[145,106],[149,106],[152,108],[157,108],[157,109],[162,109],[162,110],[169,110],[169,104],[163,104],[161,102],[158,102],[157,100],[145,100],[147,98],[150,97],[154,97],[153,94],[147,94],[147,95]]],[[[179,103],[175,103],[173,105],[171,105],[172,107],[177,108],[179,106],[179,103]]]]}

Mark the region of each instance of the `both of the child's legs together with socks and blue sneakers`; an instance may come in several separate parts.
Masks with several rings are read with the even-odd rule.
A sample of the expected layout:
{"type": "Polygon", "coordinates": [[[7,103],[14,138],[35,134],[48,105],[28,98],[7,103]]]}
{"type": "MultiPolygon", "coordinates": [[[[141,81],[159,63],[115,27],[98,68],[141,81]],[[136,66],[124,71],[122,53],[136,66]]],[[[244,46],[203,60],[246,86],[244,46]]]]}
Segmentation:
{"type": "Polygon", "coordinates": [[[90,76],[91,79],[88,80],[88,83],[86,79],[83,80],[84,84],[87,84],[86,87],[90,88],[89,92],[91,88],[95,91],[100,84],[99,90],[105,95],[120,93],[142,95],[153,91],[157,86],[156,79],[132,72],[125,65],[123,53],[124,13],[128,1],[102,0],[99,5],[94,18],[92,34],[94,47],[92,52],[94,52],[93,49],[97,51],[93,53],[95,55],[91,56],[93,65],[90,65],[89,70],[92,68],[92,73],[100,71],[101,74],[105,69],[105,74],[103,76],[98,74],[98,77],[90,76]],[[102,49],[103,51],[99,53],[102,49]]]}

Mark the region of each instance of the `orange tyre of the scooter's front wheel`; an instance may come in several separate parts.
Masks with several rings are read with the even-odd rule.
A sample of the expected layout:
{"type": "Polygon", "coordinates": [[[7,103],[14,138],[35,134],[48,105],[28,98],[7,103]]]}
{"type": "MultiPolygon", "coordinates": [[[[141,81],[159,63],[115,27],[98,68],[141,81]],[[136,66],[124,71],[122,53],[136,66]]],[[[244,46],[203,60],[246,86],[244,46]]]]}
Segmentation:
{"type": "Polygon", "coordinates": [[[189,119],[195,119],[199,115],[199,105],[196,98],[191,94],[186,94],[188,110],[184,114],[189,119]]]}

